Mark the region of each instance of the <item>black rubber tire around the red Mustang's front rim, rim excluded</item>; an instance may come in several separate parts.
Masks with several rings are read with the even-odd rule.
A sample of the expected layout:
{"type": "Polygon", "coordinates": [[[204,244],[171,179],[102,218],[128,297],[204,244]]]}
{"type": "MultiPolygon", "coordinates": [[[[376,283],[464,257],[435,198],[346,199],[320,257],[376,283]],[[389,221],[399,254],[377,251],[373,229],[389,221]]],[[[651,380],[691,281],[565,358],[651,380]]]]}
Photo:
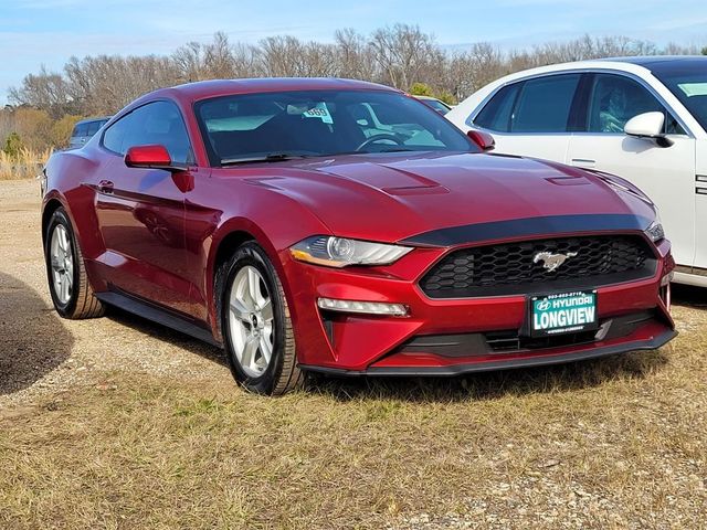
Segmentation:
{"type": "Polygon", "coordinates": [[[225,261],[217,274],[217,289],[219,294],[219,312],[223,346],[233,378],[251,392],[281,395],[303,385],[304,374],[297,367],[295,336],[289,318],[289,308],[285,298],[277,272],[265,251],[255,242],[249,241],[241,245],[230,259],[225,261]],[[241,367],[233,351],[230,329],[229,295],[233,280],[239,271],[252,266],[261,274],[273,305],[273,351],[270,363],[258,377],[249,375],[241,367]]]}

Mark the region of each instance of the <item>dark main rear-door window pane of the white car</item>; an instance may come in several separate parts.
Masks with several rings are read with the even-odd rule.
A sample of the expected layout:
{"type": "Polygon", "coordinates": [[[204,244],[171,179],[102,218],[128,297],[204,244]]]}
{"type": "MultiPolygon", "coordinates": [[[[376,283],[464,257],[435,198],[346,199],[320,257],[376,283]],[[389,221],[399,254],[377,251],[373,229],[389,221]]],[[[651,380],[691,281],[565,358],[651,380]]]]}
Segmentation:
{"type": "Polygon", "coordinates": [[[580,74],[562,74],[524,83],[510,117],[511,132],[567,132],[580,74]]]}

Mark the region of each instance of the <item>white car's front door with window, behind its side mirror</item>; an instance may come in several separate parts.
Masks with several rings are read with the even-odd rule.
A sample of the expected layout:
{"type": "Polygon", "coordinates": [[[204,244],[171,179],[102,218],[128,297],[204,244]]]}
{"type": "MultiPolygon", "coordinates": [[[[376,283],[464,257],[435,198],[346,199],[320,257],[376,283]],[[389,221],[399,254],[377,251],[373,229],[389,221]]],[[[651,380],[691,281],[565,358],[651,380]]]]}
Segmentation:
{"type": "Polygon", "coordinates": [[[643,190],[658,206],[679,265],[695,258],[695,139],[674,113],[639,81],[610,73],[591,75],[585,96],[577,102],[584,132],[570,139],[568,161],[614,173],[643,190]],[[672,146],[626,136],[625,123],[647,112],[665,114],[672,146]]]}

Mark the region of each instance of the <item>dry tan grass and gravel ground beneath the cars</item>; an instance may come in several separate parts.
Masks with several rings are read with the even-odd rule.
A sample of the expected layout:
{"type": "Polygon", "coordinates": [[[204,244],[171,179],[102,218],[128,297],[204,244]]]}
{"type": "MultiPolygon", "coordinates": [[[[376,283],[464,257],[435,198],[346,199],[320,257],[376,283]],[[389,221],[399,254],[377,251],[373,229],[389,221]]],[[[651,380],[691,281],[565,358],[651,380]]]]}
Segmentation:
{"type": "Polygon", "coordinates": [[[707,528],[705,290],[657,352],[260,398],[176,332],[57,319],[2,184],[0,528],[707,528]]]}

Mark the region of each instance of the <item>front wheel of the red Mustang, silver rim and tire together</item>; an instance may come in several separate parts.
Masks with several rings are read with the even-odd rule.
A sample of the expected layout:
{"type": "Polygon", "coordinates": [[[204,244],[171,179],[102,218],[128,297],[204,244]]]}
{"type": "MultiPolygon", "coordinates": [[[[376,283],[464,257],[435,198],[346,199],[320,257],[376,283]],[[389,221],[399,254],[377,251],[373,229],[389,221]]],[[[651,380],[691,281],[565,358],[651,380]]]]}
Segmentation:
{"type": "Polygon", "coordinates": [[[300,386],[287,300],[265,251],[254,242],[241,245],[220,277],[221,329],[234,379],[262,394],[300,386]]]}

